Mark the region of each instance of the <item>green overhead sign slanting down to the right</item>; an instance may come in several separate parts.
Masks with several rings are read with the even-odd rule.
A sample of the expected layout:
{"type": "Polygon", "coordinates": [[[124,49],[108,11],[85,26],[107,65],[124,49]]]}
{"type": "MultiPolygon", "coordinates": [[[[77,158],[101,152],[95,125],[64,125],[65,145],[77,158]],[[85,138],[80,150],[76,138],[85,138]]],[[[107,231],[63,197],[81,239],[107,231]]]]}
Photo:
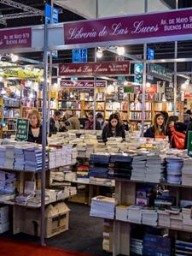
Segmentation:
{"type": "Polygon", "coordinates": [[[158,64],[149,63],[148,64],[148,74],[154,76],[155,78],[172,81],[172,73],[170,69],[164,68],[158,64]]]}

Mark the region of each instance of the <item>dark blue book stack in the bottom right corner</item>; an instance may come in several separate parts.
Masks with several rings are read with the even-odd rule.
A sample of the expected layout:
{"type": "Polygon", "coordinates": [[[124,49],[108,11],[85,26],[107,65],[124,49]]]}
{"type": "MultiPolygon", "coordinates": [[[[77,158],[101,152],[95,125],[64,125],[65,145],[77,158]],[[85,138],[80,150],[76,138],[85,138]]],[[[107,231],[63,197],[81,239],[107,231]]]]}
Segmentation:
{"type": "Polygon", "coordinates": [[[175,256],[186,256],[192,254],[192,241],[176,240],[175,256]]]}

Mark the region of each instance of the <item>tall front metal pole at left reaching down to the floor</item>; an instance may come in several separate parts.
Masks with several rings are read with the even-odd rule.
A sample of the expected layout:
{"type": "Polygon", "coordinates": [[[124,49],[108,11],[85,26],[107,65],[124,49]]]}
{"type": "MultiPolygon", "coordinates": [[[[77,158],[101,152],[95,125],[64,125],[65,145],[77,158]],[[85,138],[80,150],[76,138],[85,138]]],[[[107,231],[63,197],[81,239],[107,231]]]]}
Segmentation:
{"type": "Polygon", "coordinates": [[[47,24],[44,24],[44,88],[43,88],[43,134],[42,134],[42,170],[41,170],[41,246],[45,246],[44,234],[44,198],[45,198],[45,172],[46,172],[46,141],[47,141],[47,74],[48,74],[48,29],[47,24]]]}

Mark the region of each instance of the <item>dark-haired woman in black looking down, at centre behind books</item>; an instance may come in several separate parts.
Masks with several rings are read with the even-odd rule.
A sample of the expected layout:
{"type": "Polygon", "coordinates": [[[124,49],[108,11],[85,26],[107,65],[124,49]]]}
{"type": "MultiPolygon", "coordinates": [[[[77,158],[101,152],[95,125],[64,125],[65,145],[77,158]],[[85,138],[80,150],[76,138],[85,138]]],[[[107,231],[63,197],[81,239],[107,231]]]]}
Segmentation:
{"type": "Polygon", "coordinates": [[[104,142],[108,141],[110,137],[122,137],[123,140],[125,139],[124,126],[119,122],[119,117],[116,114],[109,116],[108,125],[102,131],[102,140],[104,142]]]}

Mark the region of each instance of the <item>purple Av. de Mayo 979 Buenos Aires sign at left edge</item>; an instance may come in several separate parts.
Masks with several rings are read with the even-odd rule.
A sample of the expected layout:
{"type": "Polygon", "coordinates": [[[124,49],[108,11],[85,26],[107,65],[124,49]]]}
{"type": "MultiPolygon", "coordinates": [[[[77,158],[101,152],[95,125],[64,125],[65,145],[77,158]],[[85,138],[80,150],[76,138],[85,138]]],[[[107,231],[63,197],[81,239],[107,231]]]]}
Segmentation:
{"type": "Polygon", "coordinates": [[[32,28],[16,28],[0,31],[0,49],[32,47],[32,28]]]}

